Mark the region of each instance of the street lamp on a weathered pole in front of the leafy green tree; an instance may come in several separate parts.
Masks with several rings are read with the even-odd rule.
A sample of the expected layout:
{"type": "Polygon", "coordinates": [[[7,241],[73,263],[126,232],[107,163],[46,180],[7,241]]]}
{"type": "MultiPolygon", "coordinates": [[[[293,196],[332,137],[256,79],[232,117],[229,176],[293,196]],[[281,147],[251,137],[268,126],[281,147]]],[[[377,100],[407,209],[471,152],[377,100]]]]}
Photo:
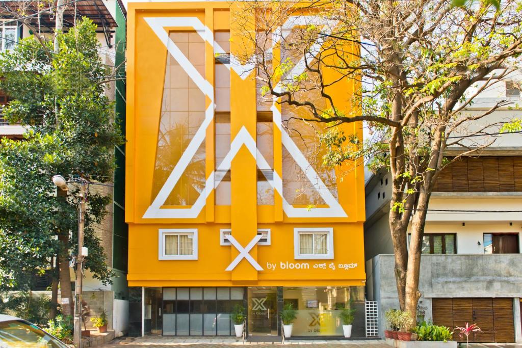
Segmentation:
{"type": "MultiPolygon", "coordinates": [[[[62,191],[67,191],[67,181],[62,175],[54,175],[53,183],[62,191]]],[[[74,345],[81,347],[81,287],[83,281],[82,268],[84,258],[87,256],[87,248],[84,247],[85,201],[87,199],[87,182],[84,179],[74,181],[79,184],[78,198],[78,256],[76,257],[76,286],[74,292],[74,345]]]]}

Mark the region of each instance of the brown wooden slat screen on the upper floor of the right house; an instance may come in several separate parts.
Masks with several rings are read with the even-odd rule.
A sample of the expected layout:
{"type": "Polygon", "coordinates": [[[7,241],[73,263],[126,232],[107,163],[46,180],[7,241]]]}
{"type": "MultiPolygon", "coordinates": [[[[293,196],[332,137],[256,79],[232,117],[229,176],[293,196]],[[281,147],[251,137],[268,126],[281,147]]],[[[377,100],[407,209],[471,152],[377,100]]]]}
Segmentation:
{"type": "Polygon", "coordinates": [[[444,168],[433,192],[522,192],[522,156],[459,159],[444,168]]]}

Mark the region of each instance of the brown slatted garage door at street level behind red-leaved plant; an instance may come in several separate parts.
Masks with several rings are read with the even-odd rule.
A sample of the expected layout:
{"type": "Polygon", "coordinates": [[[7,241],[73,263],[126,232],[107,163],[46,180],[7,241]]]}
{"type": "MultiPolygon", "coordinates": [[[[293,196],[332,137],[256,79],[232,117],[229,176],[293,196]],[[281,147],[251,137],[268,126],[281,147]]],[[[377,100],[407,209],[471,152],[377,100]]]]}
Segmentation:
{"type": "MultiPolygon", "coordinates": [[[[451,330],[476,323],[482,332],[470,335],[470,342],[515,342],[513,298],[433,298],[433,323],[451,330]]],[[[455,341],[466,337],[454,335],[455,341]]]]}

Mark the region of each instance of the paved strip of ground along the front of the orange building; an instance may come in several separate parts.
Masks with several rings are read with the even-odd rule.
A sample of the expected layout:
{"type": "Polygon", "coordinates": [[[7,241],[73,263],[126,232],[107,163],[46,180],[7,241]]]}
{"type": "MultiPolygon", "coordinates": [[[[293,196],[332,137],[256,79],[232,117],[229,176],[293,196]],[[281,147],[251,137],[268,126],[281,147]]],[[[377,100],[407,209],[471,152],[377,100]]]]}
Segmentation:
{"type": "MultiPolygon", "coordinates": [[[[243,342],[233,338],[172,338],[172,337],[139,337],[136,339],[114,340],[105,344],[103,348],[140,348],[140,347],[191,347],[191,348],[238,348],[243,342]]],[[[274,345],[281,346],[281,342],[245,342],[244,345],[255,345],[257,348],[275,348],[274,345]]],[[[364,341],[287,341],[284,345],[289,348],[311,348],[312,345],[319,345],[317,348],[390,348],[389,345],[381,340],[364,341]]]]}

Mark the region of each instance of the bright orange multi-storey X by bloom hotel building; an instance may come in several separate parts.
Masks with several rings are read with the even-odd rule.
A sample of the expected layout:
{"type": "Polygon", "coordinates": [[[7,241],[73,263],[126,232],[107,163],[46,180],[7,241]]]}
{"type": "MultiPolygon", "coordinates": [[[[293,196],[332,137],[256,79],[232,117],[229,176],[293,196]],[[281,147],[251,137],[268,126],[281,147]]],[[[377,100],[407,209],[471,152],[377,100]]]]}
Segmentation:
{"type": "Polygon", "coordinates": [[[292,304],[294,336],[341,336],[351,307],[364,337],[363,166],[336,176],[310,155],[318,125],[289,134],[295,110],[258,102],[238,6],[129,3],[129,334],[234,335],[239,305],[247,337],[280,340],[292,304]]]}

